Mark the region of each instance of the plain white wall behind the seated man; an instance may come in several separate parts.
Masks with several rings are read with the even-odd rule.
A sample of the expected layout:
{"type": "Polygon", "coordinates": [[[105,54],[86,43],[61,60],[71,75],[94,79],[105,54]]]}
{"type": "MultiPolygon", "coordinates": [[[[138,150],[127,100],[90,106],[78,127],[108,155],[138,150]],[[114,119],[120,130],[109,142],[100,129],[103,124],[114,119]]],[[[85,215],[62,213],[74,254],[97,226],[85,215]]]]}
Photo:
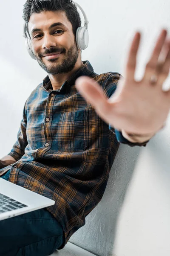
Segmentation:
{"type": "MultiPolygon", "coordinates": [[[[83,60],[88,59],[96,73],[115,71],[123,75],[130,41],[140,30],[136,79],[142,78],[160,29],[165,27],[170,32],[170,1],[77,2],[90,22],[90,44],[83,60]]],[[[24,3],[0,2],[0,158],[8,154],[17,139],[26,99],[46,76],[25,49],[24,3]]],[[[164,88],[168,84],[170,79],[164,88]]],[[[102,201],[69,241],[99,256],[170,255],[169,129],[170,118],[146,148],[120,145],[102,201]]]]}

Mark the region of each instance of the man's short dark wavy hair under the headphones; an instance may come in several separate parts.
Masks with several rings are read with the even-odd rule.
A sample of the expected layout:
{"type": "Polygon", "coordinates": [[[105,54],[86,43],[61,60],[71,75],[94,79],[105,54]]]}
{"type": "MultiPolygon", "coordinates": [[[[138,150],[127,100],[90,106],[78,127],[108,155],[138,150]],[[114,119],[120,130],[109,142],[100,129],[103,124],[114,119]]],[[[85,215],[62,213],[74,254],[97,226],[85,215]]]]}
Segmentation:
{"type": "MultiPolygon", "coordinates": [[[[68,20],[73,27],[73,33],[76,37],[76,31],[81,26],[81,19],[77,6],[71,0],[26,0],[23,8],[23,19],[26,22],[26,29],[28,31],[28,22],[33,13],[40,13],[45,11],[64,11],[68,20]]],[[[30,37],[31,38],[31,37],[30,37]]]]}

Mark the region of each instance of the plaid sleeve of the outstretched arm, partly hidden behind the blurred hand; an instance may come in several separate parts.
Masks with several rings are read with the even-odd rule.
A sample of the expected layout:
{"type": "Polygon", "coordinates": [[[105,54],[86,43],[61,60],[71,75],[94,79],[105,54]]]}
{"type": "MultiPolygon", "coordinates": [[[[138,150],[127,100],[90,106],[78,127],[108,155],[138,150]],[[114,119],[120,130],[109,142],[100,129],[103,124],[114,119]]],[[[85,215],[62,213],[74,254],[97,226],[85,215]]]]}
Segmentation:
{"type": "MultiPolygon", "coordinates": [[[[119,73],[112,73],[108,79],[105,82],[105,92],[106,95],[108,96],[108,98],[110,98],[113,93],[115,93],[116,91],[116,87],[117,87],[117,83],[119,81],[119,79],[121,78],[121,75],[119,73]]],[[[127,144],[130,147],[134,147],[134,146],[144,146],[146,147],[147,143],[149,142],[149,140],[143,142],[143,143],[132,143],[129,140],[127,140],[126,138],[123,137],[122,132],[116,130],[114,127],[111,126],[111,124],[109,124],[109,130],[112,131],[115,135],[116,135],[116,139],[119,143],[122,144],[127,144]]]]}

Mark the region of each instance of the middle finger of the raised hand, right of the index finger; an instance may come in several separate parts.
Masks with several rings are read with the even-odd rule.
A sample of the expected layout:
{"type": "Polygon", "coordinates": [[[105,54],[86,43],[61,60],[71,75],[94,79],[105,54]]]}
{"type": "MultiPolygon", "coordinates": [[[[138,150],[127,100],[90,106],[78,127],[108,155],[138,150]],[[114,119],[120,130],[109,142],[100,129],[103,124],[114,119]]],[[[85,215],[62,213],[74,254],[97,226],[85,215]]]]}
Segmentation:
{"type": "Polygon", "coordinates": [[[153,49],[153,53],[151,55],[150,60],[148,61],[146,68],[145,68],[145,73],[144,73],[144,77],[143,80],[148,82],[150,81],[151,76],[153,76],[154,74],[156,74],[156,67],[158,64],[158,58],[161,52],[161,49],[164,45],[164,41],[166,39],[167,36],[167,30],[163,29],[159,35],[159,38],[156,42],[156,46],[153,49]]]}

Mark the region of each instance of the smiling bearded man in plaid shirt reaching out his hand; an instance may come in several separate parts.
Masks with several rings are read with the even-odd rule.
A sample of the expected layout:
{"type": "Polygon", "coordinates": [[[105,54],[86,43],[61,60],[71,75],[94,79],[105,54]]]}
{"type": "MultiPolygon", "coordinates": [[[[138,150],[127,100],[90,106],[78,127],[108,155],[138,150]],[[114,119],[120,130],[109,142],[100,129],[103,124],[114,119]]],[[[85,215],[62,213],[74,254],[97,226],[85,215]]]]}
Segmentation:
{"type": "Polygon", "coordinates": [[[75,38],[81,22],[71,0],[27,0],[23,18],[48,76],[25,103],[17,142],[1,159],[0,177],[56,204],[0,221],[0,255],[45,256],[62,249],[102,199],[119,143],[146,146],[164,125],[170,92],[161,91],[161,84],[169,72],[170,43],[163,30],[137,83],[139,33],[125,78],[98,75],[81,60],[75,38]],[[163,46],[166,59],[156,72],[163,46]],[[154,73],[159,75],[155,83],[150,81],[154,73]]]}

